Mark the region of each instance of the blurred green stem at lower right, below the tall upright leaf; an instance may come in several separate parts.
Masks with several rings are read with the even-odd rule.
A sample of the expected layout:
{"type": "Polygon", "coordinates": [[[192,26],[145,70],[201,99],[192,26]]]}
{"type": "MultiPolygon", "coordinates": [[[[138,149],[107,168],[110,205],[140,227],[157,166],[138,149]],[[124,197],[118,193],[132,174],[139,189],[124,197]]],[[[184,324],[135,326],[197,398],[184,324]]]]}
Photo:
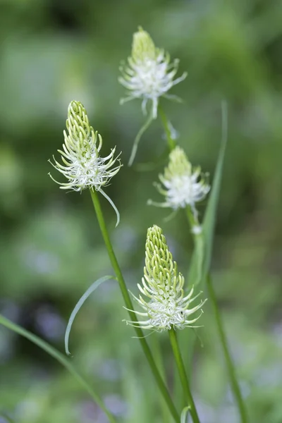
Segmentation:
{"type": "Polygon", "coordinates": [[[219,331],[219,338],[221,340],[221,346],[223,349],[224,358],[226,360],[226,367],[227,367],[229,379],[231,382],[231,388],[235,396],[236,403],[238,405],[238,410],[240,412],[240,420],[241,420],[241,423],[247,423],[247,411],[245,409],[245,404],[240,392],[238,380],[235,375],[234,364],[228,350],[228,343],[227,343],[226,335],[223,329],[223,323],[222,323],[221,315],[219,312],[219,306],[216,301],[216,294],[214,292],[214,287],[212,285],[212,278],[209,275],[207,276],[207,288],[209,290],[209,298],[212,300],[212,307],[214,309],[216,326],[219,331]]]}

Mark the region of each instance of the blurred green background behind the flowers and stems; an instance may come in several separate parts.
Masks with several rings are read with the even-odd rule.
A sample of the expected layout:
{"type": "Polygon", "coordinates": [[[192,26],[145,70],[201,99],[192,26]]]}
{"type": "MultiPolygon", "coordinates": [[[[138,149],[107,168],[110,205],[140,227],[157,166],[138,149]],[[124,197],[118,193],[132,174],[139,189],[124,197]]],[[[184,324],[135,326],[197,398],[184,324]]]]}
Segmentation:
{"type": "MultiPolygon", "coordinates": [[[[119,105],[118,67],[142,25],[180,59],[188,78],[164,102],[179,144],[211,180],[221,137],[229,137],[216,226],[213,278],[250,422],[282,422],[282,4],[281,0],[0,1],[0,311],[63,351],[75,302],[112,274],[88,192],[69,193],[47,175],[63,142],[68,103],[80,100],[104,155],[117,146],[123,168],[106,189],[121,224],[102,207],[128,286],[142,276],[145,235],[164,230],[180,271],[192,252],[185,216],[146,205],[164,166],[126,163],[144,117],[140,102],[119,105]],[[142,171],[141,171],[142,170],[142,171]]],[[[160,121],[140,142],[137,162],[165,149],[160,121]]],[[[56,171],[52,173],[55,177],[56,171]]],[[[59,177],[59,176],[58,176],[59,177]]],[[[200,207],[203,214],[205,204],[200,207]]],[[[239,421],[207,305],[192,372],[202,423],[239,421]]],[[[71,333],[73,363],[121,422],[165,422],[159,394],[114,281],[99,287],[71,333]]],[[[190,332],[186,331],[186,336],[190,332]]],[[[154,348],[154,336],[148,338],[154,348]]],[[[173,367],[161,336],[166,369],[173,367]]],[[[178,398],[179,399],[179,398],[178,398]]],[[[105,423],[103,413],[51,357],[0,328],[1,423],[105,423]]]]}

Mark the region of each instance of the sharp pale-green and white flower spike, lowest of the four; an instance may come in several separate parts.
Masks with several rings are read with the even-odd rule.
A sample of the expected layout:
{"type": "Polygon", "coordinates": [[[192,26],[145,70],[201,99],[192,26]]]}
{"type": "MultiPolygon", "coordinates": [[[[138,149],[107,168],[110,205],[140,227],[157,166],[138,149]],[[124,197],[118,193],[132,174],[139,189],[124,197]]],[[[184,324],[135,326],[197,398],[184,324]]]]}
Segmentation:
{"type": "Polygon", "coordinates": [[[190,304],[200,294],[193,298],[192,288],[188,295],[185,295],[183,285],[184,278],[182,274],[178,273],[176,262],[173,262],[161,228],[158,226],[149,228],[146,240],[144,278],[142,278],[142,285],[137,284],[142,295],[139,295],[139,298],[133,295],[133,298],[144,309],[144,312],[135,313],[145,317],[145,320],[126,322],[131,326],[154,331],[193,327],[192,324],[202,314],[202,305],[206,300],[190,308],[190,304]],[[200,314],[194,319],[190,319],[190,315],[198,310],[200,310],[200,314]]]}

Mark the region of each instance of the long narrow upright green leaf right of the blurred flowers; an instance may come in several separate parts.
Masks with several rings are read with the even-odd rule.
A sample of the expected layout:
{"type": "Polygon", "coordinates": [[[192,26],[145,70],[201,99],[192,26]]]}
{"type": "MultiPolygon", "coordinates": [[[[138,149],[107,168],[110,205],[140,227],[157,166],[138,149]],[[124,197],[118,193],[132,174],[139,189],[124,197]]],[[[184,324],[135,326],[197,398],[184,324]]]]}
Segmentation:
{"type": "MultiPolygon", "coordinates": [[[[203,271],[202,271],[202,281],[207,276],[209,272],[209,267],[212,261],[212,247],[214,240],[214,227],[216,223],[216,210],[219,203],[219,192],[221,188],[221,178],[223,171],[223,161],[226,150],[227,143],[227,132],[228,132],[228,111],[226,102],[221,102],[221,116],[222,116],[222,126],[221,126],[221,147],[219,149],[219,157],[216,163],[216,170],[214,173],[214,180],[212,182],[212,191],[209,195],[209,202],[207,204],[207,210],[204,214],[204,223],[202,227],[202,236],[204,238],[203,248],[204,248],[204,260],[203,260],[203,271]]],[[[195,284],[198,274],[198,259],[199,250],[196,248],[192,254],[192,259],[190,263],[190,269],[188,273],[188,283],[190,286],[195,284]]],[[[202,283],[202,282],[201,282],[202,283]]]]}

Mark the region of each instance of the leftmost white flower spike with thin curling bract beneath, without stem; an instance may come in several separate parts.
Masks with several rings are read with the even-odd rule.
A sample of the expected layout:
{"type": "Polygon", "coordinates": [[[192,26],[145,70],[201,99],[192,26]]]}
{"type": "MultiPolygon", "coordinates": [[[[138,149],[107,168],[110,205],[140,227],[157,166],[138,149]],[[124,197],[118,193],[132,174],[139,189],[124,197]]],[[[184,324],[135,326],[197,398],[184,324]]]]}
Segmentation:
{"type": "Polygon", "coordinates": [[[117,224],[119,214],[116,206],[102,190],[102,187],[109,185],[111,178],[118,173],[121,162],[118,159],[120,154],[114,158],[116,147],[111,149],[107,157],[100,157],[102,148],[102,137],[96,132],[88,121],[85,107],[80,102],[71,102],[68,106],[68,118],[66,120],[66,130],[63,131],[65,142],[63,150],[58,150],[61,154],[60,164],[53,156],[54,163],[51,163],[57,171],[61,172],[68,180],[67,183],[59,183],[63,190],[82,191],[85,188],[101,192],[111,203],[117,214],[117,224]],[[98,141],[98,145],[97,145],[98,141]],[[117,166],[114,166],[118,161],[117,166]]]}

